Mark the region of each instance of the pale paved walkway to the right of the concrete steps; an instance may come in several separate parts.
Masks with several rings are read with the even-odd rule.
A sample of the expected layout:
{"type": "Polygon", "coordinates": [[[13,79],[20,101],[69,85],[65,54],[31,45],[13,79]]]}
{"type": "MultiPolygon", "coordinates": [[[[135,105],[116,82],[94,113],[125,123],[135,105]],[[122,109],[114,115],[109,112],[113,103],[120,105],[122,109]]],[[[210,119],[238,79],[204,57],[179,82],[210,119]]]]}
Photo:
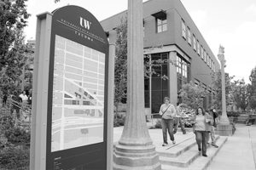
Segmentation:
{"type": "Polygon", "coordinates": [[[236,133],[229,137],[207,170],[255,170],[256,125],[236,124],[236,133]]]}

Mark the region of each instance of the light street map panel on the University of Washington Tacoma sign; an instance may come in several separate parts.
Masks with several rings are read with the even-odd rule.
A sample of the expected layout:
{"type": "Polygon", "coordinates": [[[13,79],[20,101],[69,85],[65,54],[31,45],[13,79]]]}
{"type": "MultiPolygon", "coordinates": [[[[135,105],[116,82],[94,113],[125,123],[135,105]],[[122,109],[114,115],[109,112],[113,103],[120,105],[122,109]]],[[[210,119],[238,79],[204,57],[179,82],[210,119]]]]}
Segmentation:
{"type": "Polygon", "coordinates": [[[103,142],[105,54],[55,36],[51,151],[103,142]]]}

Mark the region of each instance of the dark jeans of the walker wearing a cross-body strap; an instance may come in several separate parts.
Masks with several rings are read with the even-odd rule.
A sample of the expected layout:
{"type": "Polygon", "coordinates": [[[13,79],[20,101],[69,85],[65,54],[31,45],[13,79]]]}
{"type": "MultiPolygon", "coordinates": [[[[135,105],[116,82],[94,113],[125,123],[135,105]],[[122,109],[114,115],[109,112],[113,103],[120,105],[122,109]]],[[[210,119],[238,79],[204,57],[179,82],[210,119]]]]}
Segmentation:
{"type": "Polygon", "coordinates": [[[164,143],[167,143],[167,130],[170,136],[170,139],[173,141],[174,140],[174,136],[173,136],[173,123],[174,120],[173,119],[162,119],[161,120],[161,124],[162,124],[162,131],[163,131],[163,139],[164,139],[164,143]]]}

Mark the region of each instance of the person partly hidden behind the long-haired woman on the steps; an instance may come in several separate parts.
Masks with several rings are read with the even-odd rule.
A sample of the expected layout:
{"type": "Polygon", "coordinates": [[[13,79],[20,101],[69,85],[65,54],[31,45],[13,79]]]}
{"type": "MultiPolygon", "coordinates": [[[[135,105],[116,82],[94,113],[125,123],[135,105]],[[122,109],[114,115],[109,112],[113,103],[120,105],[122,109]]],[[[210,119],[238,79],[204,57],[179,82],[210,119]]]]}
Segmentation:
{"type": "Polygon", "coordinates": [[[210,136],[212,139],[212,146],[215,148],[218,148],[218,145],[216,144],[216,138],[215,138],[215,127],[217,127],[218,124],[218,113],[216,112],[215,109],[209,111],[209,115],[212,116],[213,118],[213,124],[211,126],[211,131],[208,133],[209,135],[207,136],[207,144],[209,144],[210,136]]]}

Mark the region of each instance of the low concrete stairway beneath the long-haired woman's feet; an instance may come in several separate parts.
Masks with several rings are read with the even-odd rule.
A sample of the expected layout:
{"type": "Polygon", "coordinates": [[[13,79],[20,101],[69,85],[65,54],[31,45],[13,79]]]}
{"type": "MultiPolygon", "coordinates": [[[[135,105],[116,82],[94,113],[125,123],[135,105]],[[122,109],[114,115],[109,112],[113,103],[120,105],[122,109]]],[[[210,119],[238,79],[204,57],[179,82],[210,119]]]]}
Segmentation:
{"type": "Polygon", "coordinates": [[[211,163],[218,150],[227,141],[227,137],[216,136],[218,148],[207,147],[207,157],[200,156],[195,137],[184,140],[179,144],[157,148],[162,170],[205,170],[211,163]]]}

